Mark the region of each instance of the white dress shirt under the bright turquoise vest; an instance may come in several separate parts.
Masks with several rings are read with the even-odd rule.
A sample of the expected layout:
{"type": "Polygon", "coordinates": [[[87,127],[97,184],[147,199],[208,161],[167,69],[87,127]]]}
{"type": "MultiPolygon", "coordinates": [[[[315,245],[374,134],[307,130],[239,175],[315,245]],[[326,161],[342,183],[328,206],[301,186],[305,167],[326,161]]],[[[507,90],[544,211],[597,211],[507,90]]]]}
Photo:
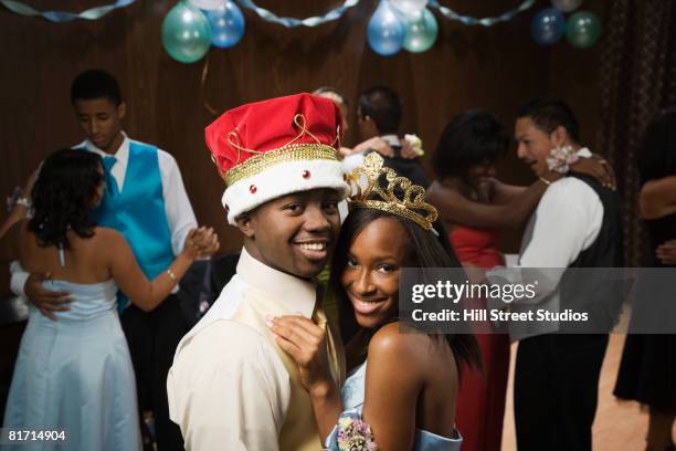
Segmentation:
{"type": "MultiPolygon", "coordinates": [[[[125,139],[120,144],[115,155],[106,154],[97,148],[92,141],[85,139],[73,148],[86,148],[89,151],[101,155],[102,158],[114,156],[117,162],[110,169],[110,175],[117,181],[117,187],[122,192],[125,189],[125,176],[127,174],[127,165],[129,162],[129,143],[131,139],[123,132],[125,139]]],[[[197,219],[190,206],[190,200],[183,186],[183,179],[176,160],[165,150],[158,149],[158,165],[160,171],[160,180],[162,183],[162,195],[165,197],[165,211],[167,214],[167,223],[171,232],[171,249],[173,254],[178,255],[183,250],[186,237],[191,229],[197,228],[197,219]]],[[[19,296],[24,296],[23,286],[29,277],[29,273],[21,269],[19,262],[12,262],[10,265],[12,272],[11,290],[19,296]]],[[[175,292],[177,289],[175,289],[175,292]]]]}

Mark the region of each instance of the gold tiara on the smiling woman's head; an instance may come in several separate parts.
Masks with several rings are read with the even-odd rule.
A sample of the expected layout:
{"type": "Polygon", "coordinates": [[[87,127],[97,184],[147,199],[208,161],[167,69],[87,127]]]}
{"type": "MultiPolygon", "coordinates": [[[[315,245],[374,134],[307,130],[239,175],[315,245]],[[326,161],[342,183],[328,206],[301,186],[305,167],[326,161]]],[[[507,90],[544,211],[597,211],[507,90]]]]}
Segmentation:
{"type": "Polygon", "coordinates": [[[352,188],[350,208],[372,208],[397,214],[415,222],[425,230],[432,229],[439,213],[425,202],[425,189],[411,183],[405,177],[398,177],[393,169],[383,167],[382,157],[377,153],[369,154],[363,166],[358,167],[347,177],[352,188]],[[387,187],[381,186],[380,177],[385,176],[387,187]],[[361,187],[362,176],[367,186],[361,187]],[[425,214],[426,213],[426,214],[425,214]]]}

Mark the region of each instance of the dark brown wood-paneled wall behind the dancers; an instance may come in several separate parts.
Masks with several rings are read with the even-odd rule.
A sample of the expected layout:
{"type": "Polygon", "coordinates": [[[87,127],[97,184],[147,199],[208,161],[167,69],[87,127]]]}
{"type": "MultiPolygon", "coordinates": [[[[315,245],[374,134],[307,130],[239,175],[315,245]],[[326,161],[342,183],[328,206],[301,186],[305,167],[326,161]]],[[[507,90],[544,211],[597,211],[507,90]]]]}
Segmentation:
{"type": "MultiPolygon", "coordinates": [[[[84,10],[102,0],[43,0],[41,9],[84,10]]],[[[324,13],[341,0],[257,0],[279,15],[324,13]]],[[[496,15],[520,0],[442,0],[471,15],[496,15]]],[[[584,7],[603,19],[604,0],[584,7]]],[[[68,99],[72,78],[101,67],[116,75],[127,102],[129,136],[171,153],[200,223],[218,228],[223,251],[240,245],[237,232],[225,226],[220,206],[223,190],[203,141],[203,128],[219,112],[271,96],[331,85],[352,102],[347,144],[355,144],[355,103],[359,92],[388,85],[404,105],[401,132],[418,133],[430,154],[445,124],[457,113],[476,107],[494,111],[511,126],[516,108],[538,95],[569,101],[582,123],[582,137],[595,138],[600,122],[596,86],[603,41],[580,51],[561,42],[536,45],[530,18],[549,6],[542,1],[508,23],[466,27],[440,18],[436,44],[423,54],[374,54],[366,41],[367,22],[376,0],[362,0],[340,20],[313,29],[285,29],[245,11],[243,40],[229,50],[212,49],[204,90],[204,61],[183,65],[171,60],[160,43],[160,27],[175,4],[139,0],[97,21],[54,24],[0,9],[0,193],[23,180],[51,150],[82,140],[68,99]]],[[[500,165],[503,177],[529,182],[531,176],[511,153],[500,165]]],[[[4,213],[0,216],[4,218],[4,213]]],[[[508,249],[515,234],[505,239],[508,249]]],[[[4,265],[4,263],[0,263],[4,265]]],[[[4,272],[3,272],[4,273],[4,272]]],[[[0,276],[7,292],[7,273],[0,276]]]]}

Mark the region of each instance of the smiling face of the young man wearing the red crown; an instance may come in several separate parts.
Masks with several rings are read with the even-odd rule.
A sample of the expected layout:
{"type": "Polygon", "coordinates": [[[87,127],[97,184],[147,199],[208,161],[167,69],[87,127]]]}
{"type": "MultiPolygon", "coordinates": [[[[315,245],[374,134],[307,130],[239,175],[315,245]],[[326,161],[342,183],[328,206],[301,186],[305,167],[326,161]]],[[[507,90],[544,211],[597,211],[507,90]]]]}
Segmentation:
{"type": "Polygon", "coordinates": [[[249,253],[287,274],[315,277],[328,261],[340,230],[334,189],[314,189],[271,200],[237,218],[249,253]]]}

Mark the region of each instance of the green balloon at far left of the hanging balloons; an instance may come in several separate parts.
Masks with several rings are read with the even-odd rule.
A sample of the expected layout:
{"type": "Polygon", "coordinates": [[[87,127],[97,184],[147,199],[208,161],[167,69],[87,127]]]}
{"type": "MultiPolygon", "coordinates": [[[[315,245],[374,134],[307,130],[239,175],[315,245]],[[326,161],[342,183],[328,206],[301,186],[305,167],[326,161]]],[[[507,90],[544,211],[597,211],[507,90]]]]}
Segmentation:
{"type": "Polygon", "coordinates": [[[162,44],[179,63],[201,60],[211,45],[209,20],[187,1],[178,2],[162,22],[162,44]]]}

